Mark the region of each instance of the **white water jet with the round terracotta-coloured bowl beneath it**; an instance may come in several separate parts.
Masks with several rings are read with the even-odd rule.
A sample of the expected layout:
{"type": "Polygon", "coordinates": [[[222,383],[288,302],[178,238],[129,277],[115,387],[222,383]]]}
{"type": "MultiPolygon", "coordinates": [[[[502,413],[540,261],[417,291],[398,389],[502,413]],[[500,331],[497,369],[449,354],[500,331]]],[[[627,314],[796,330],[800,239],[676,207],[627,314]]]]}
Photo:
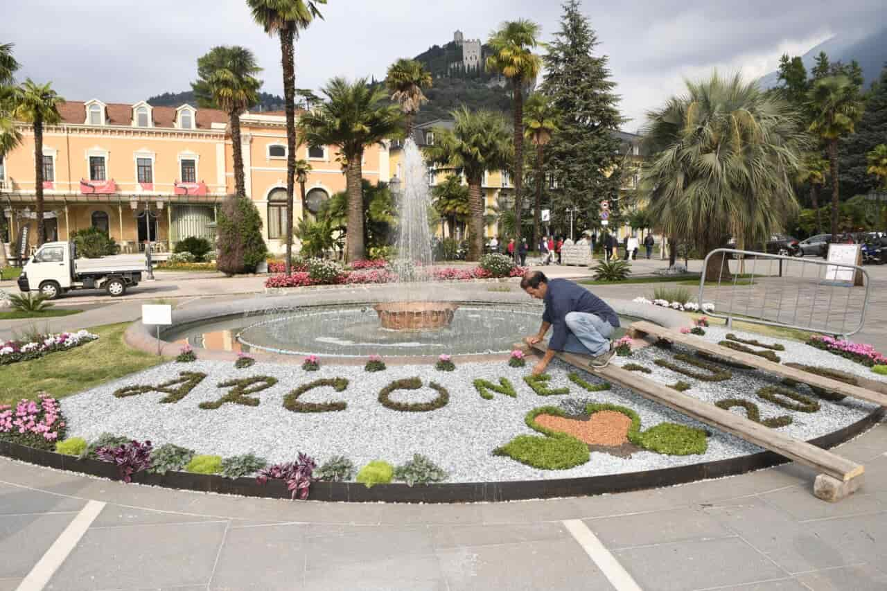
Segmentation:
{"type": "Polygon", "coordinates": [[[428,282],[434,262],[428,224],[432,203],[428,191],[428,168],[412,138],[404,143],[401,171],[400,188],[393,191],[399,212],[397,260],[393,266],[404,282],[407,297],[404,301],[377,304],[373,309],[379,314],[382,327],[392,330],[448,327],[459,306],[429,301],[431,289],[428,282]]]}

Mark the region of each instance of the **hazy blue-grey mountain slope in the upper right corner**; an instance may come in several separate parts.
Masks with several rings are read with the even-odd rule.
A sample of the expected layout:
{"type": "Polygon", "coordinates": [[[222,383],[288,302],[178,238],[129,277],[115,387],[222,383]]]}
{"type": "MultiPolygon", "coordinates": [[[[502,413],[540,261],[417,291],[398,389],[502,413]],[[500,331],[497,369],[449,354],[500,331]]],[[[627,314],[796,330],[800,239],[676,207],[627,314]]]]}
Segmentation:
{"type": "MultiPolygon", "coordinates": [[[[853,59],[860,62],[862,74],[866,79],[865,88],[868,88],[878,79],[881,75],[881,68],[887,63],[887,28],[865,35],[836,35],[828,41],[820,43],[801,56],[807,72],[812,69],[814,60],[820,51],[825,51],[828,61],[833,64],[836,61],[849,64],[853,59]]],[[[779,74],[771,72],[761,77],[757,82],[763,89],[773,88],[779,85],[779,74]]]]}

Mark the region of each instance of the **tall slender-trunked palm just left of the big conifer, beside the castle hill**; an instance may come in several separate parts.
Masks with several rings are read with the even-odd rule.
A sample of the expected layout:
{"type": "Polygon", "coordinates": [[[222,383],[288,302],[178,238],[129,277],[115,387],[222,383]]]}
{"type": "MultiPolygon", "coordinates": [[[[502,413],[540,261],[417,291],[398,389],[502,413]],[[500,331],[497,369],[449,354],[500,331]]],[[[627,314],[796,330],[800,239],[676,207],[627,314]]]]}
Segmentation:
{"type": "MultiPolygon", "coordinates": [[[[512,20],[490,35],[492,54],[486,66],[511,80],[514,91],[514,217],[521,241],[521,191],[523,187],[523,89],[536,80],[542,59],[532,52],[538,45],[541,28],[531,20],[512,20]]],[[[515,251],[516,252],[516,251],[515,251]]]]}

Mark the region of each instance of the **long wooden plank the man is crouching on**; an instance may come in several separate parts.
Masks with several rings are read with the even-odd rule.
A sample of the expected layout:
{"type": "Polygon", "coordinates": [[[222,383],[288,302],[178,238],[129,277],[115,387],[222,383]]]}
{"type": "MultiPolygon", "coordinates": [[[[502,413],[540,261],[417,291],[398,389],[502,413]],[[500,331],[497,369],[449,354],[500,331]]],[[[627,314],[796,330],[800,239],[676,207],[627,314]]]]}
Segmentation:
{"type": "MultiPolygon", "coordinates": [[[[545,343],[533,345],[533,348],[541,352],[546,351],[545,343]]],[[[809,444],[801,439],[789,437],[760,423],[750,421],[739,414],[731,413],[718,406],[710,405],[687,394],[682,394],[677,390],[672,390],[667,386],[643,378],[622,367],[610,365],[603,369],[595,369],[588,366],[589,358],[573,353],[558,352],[555,353],[555,357],[569,363],[571,366],[576,366],[579,369],[604,378],[608,382],[615,382],[625,388],[630,388],[644,398],[653,400],[663,406],[668,406],[697,421],[704,422],[716,429],[726,431],[755,445],[779,453],[789,458],[789,460],[810,466],[812,469],[828,474],[828,476],[842,482],[859,477],[865,471],[863,466],[854,461],[820,449],[816,445],[809,444]]]]}

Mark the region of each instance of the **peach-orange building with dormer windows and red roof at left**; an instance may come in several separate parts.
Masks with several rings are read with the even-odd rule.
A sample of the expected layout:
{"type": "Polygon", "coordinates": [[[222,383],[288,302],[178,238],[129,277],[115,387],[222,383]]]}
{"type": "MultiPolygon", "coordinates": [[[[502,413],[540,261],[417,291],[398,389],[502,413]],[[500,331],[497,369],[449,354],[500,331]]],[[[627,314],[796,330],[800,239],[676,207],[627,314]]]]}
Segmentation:
{"type": "MultiPolygon", "coordinates": [[[[189,236],[212,236],[218,207],[234,191],[232,141],[222,111],[190,105],[177,108],[68,101],[61,122],[43,129],[45,240],[67,240],[90,226],[109,232],[124,252],[152,243],[168,252],[189,236]]],[[[0,208],[7,248],[21,229],[36,231],[34,134],[20,123],[20,146],[0,157],[0,208]]],[[[287,130],[282,112],[241,116],[247,195],[263,217],[263,235],[272,252],[286,240],[287,130]]],[[[297,158],[310,162],[306,185],[309,209],[345,189],[345,177],[331,146],[299,146],[297,158]]],[[[389,179],[389,151],[366,150],[364,175],[373,183],[389,179]]],[[[295,188],[294,220],[302,217],[295,188]]],[[[298,247],[298,242],[296,242],[298,247]]]]}

